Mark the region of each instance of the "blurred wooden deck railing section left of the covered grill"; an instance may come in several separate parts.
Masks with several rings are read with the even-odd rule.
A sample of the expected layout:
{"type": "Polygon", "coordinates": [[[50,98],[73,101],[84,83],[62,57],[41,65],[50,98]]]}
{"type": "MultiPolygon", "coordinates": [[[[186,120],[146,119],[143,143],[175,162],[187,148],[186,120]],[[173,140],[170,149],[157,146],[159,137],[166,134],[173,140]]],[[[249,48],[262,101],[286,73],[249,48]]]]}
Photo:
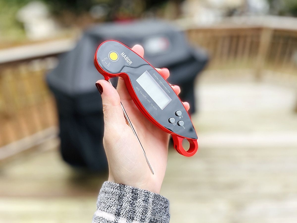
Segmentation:
{"type": "Polygon", "coordinates": [[[0,51],[0,160],[57,134],[54,98],[45,74],[71,40],[0,51]]]}

